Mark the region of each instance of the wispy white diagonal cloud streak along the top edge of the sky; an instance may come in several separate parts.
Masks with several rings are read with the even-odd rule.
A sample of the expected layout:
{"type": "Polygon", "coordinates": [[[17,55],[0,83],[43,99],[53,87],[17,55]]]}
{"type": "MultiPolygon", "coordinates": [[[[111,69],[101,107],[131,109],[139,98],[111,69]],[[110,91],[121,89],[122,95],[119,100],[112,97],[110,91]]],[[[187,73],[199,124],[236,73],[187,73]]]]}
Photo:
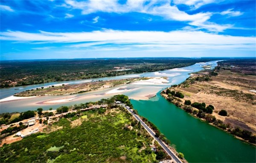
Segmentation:
{"type": "MultiPolygon", "coordinates": [[[[212,2],[213,0],[180,0],[177,1],[177,4],[186,3],[189,6],[198,7],[212,2]]],[[[127,0],[125,4],[118,3],[118,0],[65,0],[65,4],[62,6],[67,7],[68,9],[79,9],[81,10],[82,14],[91,14],[95,12],[139,12],[144,14],[151,14],[163,17],[166,20],[177,20],[192,23],[193,26],[198,26],[209,31],[218,31],[218,29],[223,31],[229,27],[227,25],[217,24],[216,26],[209,26],[211,23],[208,22],[208,20],[214,13],[199,12],[196,14],[187,14],[185,11],[180,11],[177,6],[171,6],[170,4],[171,0],[127,0]],[[200,23],[198,23],[198,21],[200,21],[200,23]]]]}

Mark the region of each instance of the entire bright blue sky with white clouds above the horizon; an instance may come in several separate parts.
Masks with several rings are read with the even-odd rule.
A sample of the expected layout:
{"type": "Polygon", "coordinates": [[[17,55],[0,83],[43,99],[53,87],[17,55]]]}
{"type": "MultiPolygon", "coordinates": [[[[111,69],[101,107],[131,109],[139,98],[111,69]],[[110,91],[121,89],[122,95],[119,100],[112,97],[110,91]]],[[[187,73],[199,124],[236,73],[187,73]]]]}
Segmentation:
{"type": "Polygon", "coordinates": [[[255,0],[0,0],[0,60],[256,57],[255,0]]]}

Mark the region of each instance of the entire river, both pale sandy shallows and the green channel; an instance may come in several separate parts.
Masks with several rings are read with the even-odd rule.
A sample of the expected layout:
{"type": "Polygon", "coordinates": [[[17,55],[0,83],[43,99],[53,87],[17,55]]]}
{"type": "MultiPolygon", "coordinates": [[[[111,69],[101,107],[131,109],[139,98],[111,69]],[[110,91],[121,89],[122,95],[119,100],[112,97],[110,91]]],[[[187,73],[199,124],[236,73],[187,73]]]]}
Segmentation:
{"type": "MultiPolygon", "coordinates": [[[[143,74],[129,74],[116,77],[105,77],[91,80],[112,80],[125,79],[129,77],[169,77],[169,83],[162,85],[125,85],[126,89],[130,90],[122,94],[128,95],[130,98],[140,99],[144,95],[157,93],[156,97],[150,100],[131,100],[134,108],[138,110],[139,114],[148,118],[154,123],[166,137],[175,144],[177,151],[185,155],[189,162],[255,162],[256,148],[243,143],[241,140],[234,138],[232,135],[216,129],[207,123],[190,116],[182,109],[169,103],[160,96],[160,91],[173,84],[179,84],[189,77],[189,73],[200,71],[202,66],[211,65],[214,68],[217,61],[208,63],[196,63],[195,65],[183,67],[179,69],[147,72],[143,74]]],[[[60,83],[83,83],[91,80],[75,80],[65,82],[52,82],[45,84],[38,84],[32,86],[22,86],[8,89],[0,89],[0,99],[9,97],[14,93],[21,92],[26,89],[34,89],[41,86],[51,86],[60,83]]],[[[122,88],[118,86],[116,88],[122,88]]],[[[102,98],[113,96],[113,94],[106,95],[114,88],[97,90],[93,92],[86,92],[77,95],[61,95],[61,96],[42,96],[30,99],[15,100],[0,103],[0,113],[3,112],[23,112],[26,110],[35,110],[38,107],[43,109],[53,109],[59,106],[69,106],[76,103],[86,103],[89,101],[96,101],[102,98]],[[93,95],[93,96],[91,96],[93,95]],[[65,103],[45,104],[39,105],[38,102],[59,99],[59,98],[73,98],[65,103]]]]}

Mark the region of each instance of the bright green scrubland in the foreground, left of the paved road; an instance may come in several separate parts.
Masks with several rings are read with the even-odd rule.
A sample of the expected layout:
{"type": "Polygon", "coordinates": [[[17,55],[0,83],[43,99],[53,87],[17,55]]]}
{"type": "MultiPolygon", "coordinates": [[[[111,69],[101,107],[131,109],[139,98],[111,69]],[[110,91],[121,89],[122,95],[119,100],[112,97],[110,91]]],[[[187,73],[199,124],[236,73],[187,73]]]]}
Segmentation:
{"type": "MultiPolygon", "coordinates": [[[[125,108],[113,103],[115,100],[132,108],[125,95],[70,106],[69,109],[76,112],[47,125],[44,133],[32,134],[18,142],[3,145],[0,148],[0,162],[148,163],[170,159],[125,108]],[[80,111],[81,108],[103,103],[108,104],[107,109],[80,111]],[[151,149],[153,146],[154,150],[151,149]]],[[[44,123],[47,124],[46,121],[44,123]]],[[[163,135],[161,137],[164,138],[163,135]]],[[[179,156],[183,157],[182,154],[179,156]]]]}

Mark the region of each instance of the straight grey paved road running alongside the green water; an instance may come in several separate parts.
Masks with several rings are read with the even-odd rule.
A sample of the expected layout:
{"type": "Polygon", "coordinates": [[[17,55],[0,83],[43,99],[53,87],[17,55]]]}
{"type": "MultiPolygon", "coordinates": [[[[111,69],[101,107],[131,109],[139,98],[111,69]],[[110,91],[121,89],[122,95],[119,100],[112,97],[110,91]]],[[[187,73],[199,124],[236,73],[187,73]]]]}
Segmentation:
{"type": "Polygon", "coordinates": [[[140,121],[140,123],[144,126],[144,128],[151,134],[152,137],[154,137],[155,140],[157,140],[157,142],[163,147],[163,149],[172,157],[172,159],[176,163],[182,163],[182,161],[176,156],[174,152],[172,152],[160,139],[154,136],[155,135],[154,132],[140,119],[140,117],[134,114],[134,112],[132,112],[128,106],[125,106],[125,105],[122,105],[122,106],[124,106],[138,121],[140,121]]]}

